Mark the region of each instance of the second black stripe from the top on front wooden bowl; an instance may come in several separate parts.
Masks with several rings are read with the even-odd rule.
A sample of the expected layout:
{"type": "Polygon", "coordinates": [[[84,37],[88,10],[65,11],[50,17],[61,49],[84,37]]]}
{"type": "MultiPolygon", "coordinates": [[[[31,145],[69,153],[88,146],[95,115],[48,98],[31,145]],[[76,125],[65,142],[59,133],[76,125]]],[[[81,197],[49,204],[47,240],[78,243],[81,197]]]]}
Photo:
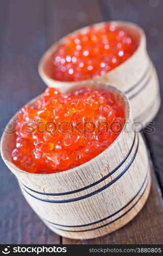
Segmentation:
{"type": "Polygon", "coordinates": [[[105,186],[97,189],[96,191],[90,193],[90,194],[87,194],[87,195],[84,195],[82,197],[77,197],[77,198],[72,198],[72,199],[67,199],[67,200],[49,200],[49,199],[43,199],[43,198],[39,198],[39,197],[36,197],[32,194],[30,194],[24,187],[22,187],[20,185],[20,187],[22,188],[22,190],[24,190],[28,195],[30,195],[31,197],[37,199],[37,200],[40,200],[40,201],[43,201],[43,202],[47,202],[47,203],[70,203],[70,202],[74,202],[74,201],[79,201],[79,200],[83,200],[83,199],[86,199],[86,198],[89,198],[89,197],[92,197],[94,196],[95,194],[97,193],[100,193],[101,191],[103,191],[104,189],[110,187],[112,184],[114,184],[116,181],[118,181],[126,172],[127,170],[129,169],[129,167],[131,166],[131,164],[133,163],[137,153],[138,153],[138,147],[139,147],[139,137],[138,137],[138,143],[137,143],[137,148],[134,152],[134,155],[133,157],[131,158],[131,161],[128,163],[128,165],[123,169],[123,171],[114,179],[112,180],[111,182],[109,182],[108,184],[106,184],[105,186]]]}

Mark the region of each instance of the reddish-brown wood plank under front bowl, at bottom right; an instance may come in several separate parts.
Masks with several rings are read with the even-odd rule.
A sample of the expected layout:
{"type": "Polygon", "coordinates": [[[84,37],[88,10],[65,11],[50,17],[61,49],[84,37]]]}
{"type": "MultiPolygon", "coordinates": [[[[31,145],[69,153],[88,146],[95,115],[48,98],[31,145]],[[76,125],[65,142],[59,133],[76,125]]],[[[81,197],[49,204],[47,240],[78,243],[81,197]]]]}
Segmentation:
{"type": "Polygon", "coordinates": [[[89,240],[63,238],[63,244],[162,244],[163,203],[152,170],[152,187],[147,203],[126,226],[104,237],[89,240]]]}

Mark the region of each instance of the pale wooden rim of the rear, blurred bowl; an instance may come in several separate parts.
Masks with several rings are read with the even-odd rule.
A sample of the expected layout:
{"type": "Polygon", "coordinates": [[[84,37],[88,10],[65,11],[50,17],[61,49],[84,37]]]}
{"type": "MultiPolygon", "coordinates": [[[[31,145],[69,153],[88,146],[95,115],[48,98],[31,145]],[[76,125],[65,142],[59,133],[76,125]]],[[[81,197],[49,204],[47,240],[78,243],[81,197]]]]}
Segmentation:
{"type": "Polygon", "coordinates": [[[60,86],[61,86],[61,84],[64,84],[65,86],[66,85],[68,86],[69,84],[76,84],[78,82],[86,82],[86,81],[89,82],[89,81],[96,80],[96,79],[99,79],[99,78],[104,78],[108,73],[112,74],[113,72],[122,68],[126,63],[131,61],[135,57],[135,55],[137,55],[140,52],[143,45],[146,46],[146,35],[145,35],[144,30],[139,25],[137,25],[135,23],[132,23],[132,22],[127,22],[127,21],[124,21],[124,20],[106,20],[104,22],[95,23],[95,24],[88,25],[88,26],[82,27],[80,29],[74,30],[74,31],[68,33],[67,35],[63,36],[59,40],[57,40],[54,44],[52,44],[43,53],[42,57],[40,58],[40,61],[39,61],[39,64],[38,64],[38,73],[39,73],[40,77],[42,78],[42,80],[45,82],[45,84],[47,86],[49,86],[47,81],[49,81],[50,83],[54,83],[53,86],[49,86],[49,87],[55,87],[55,86],[57,87],[57,83],[60,86]],[[72,35],[74,33],[77,33],[77,32],[82,32],[82,31],[88,30],[90,28],[90,26],[102,27],[105,23],[111,23],[111,24],[113,24],[114,26],[117,26],[117,27],[122,26],[124,28],[126,27],[126,28],[130,28],[130,29],[133,29],[133,30],[137,30],[137,32],[140,34],[139,45],[138,45],[137,49],[133,52],[133,54],[128,59],[126,59],[124,62],[122,62],[120,65],[118,65],[116,68],[112,69],[111,71],[106,72],[106,74],[100,75],[97,78],[92,77],[92,78],[89,78],[89,79],[86,79],[86,80],[60,81],[60,80],[52,79],[49,75],[46,74],[46,72],[44,72],[45,62],[50,58],[51,54],[53,54],[53,52],[55,52],[55,50],[58,48],[58,46],[63,44],[63,42],[64,42],[64,40],[67,36],[70,36],[70,35],[72,35]]]}

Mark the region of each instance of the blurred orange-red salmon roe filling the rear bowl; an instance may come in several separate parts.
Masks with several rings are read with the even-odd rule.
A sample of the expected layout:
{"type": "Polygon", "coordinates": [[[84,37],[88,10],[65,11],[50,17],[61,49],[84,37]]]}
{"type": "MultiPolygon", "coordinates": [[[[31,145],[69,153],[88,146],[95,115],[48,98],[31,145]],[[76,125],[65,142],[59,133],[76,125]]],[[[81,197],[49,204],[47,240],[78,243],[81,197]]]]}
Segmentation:
{"type": "Polygon", "coordinates": [[[91,26],[87,33],[67,36],[52,56],[52,78],[80,81],[104,75],[128,59],[137,49],[129,34],[105,23],[91,26]]]}

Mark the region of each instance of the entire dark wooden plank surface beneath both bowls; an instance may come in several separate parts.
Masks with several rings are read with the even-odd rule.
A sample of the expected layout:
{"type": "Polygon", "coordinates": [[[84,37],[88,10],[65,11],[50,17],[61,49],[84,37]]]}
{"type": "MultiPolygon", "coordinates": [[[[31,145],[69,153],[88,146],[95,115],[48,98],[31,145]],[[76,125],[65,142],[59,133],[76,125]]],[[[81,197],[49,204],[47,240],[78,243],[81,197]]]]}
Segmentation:
{"type": "MultiPolygon", "coordinates": [[[[0,1],[0,127],[27,101],[43,92],[37,72],[43,52],[61,36],[110,19],[135,22],[147,35],[157,69],[161,96],[163,1],[154,0],[1,0],[0,1]],[[156,4],[158,3],[158,6],[156,4]]],[[[155,133],[145,134],[154,165],[150,197],[125,227],[93,240],[70,240],[51,232],[20,193],[17,181],[0,159],[1,244],[158,244],[163,243],[163,109],[155,118],[155,133]]]]}

